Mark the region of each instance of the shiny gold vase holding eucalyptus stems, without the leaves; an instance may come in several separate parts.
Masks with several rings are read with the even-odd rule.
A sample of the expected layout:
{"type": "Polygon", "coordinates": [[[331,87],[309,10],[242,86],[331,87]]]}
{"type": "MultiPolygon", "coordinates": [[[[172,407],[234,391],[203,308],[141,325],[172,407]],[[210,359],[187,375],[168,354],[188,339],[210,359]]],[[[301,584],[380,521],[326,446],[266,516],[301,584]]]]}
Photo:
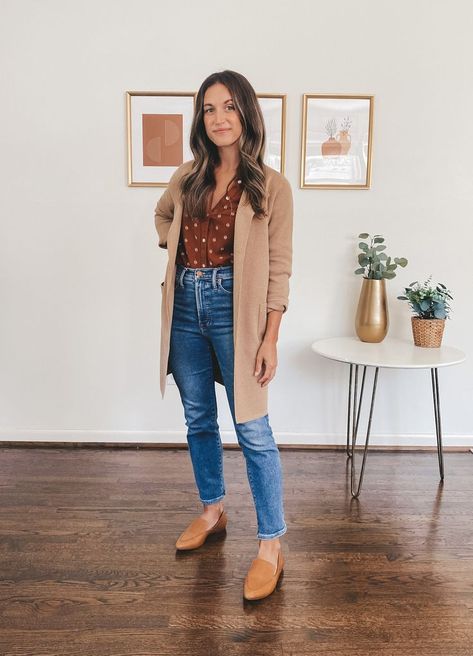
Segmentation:
{"type": "Polygon", "coordinates": [[[363,278],[356,311],[356,334],[362,342],[382,342],[389,326],[384,278],[363,278]]]}

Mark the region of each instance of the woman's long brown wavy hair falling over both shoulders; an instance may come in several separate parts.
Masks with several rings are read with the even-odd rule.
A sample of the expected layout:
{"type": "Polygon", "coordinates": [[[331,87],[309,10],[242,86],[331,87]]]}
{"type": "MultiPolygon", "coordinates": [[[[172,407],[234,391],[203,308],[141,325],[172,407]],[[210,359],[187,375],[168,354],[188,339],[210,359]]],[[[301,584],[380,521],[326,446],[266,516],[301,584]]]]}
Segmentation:
{"type": "Polygon", "coordinates": [[[263,217],[266,215],[263,165],[266,134],[263,114],[255,90],[246,77],[230,70],[212,73],[202,82],[197,92],[190,136],[194,164],[180,183],[183,208],[189,216],[203,219],[207,213],[208,195],[216,186],[215,167],[220,164],[220,156],[217,146],[208,138],[205,130],[204,95],[209,87],[218,82],[230,91],[242,125],[238,178],[242,181],[254,213],[263,217]]]}

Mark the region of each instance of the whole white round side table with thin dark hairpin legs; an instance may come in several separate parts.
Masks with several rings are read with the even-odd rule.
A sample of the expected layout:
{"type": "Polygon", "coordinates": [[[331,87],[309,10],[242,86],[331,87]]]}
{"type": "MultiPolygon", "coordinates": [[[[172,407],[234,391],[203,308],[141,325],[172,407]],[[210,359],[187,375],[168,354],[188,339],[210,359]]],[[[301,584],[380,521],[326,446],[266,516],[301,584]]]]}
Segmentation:
{"type": "Polygon", "coordinates": [[[443,452],[442,452],[442,424],[440,420],[440,392],[438,381],[439,367],[448,367],[460,364],[465,360],[465,354],[450,346],[440,348],[421,348],[412,342],[400,339],[386,338],[379,344],[361,342],[356,337],[333,337],[331,339],[317,340],[312,344],[315,353],[338,362],[350,365],[348,384],[348,410],[347,410],[347,456],[351,458],[351,494],[358,497],[363,483],[366,454],[373,418],[374,400],[378,382],[378,372],[382,368],[390,369],[430,369],[432,380],[432,395],[434,402],[435,433],[437,436],[437,453],[439,459],[440,479],[444,479],[443,452]],[[363,367],[361,389],[358,399],[358,368],[363,367]],[[373,386],[371,391],[371,404],[368,427],[366,429],[365,448],[361,465],[358,486],[355,485],[355,446],[360,420],[360,410],[365,387],[366,368],[374,367],[373,386]],[[351,435],[351,448],[350,448],[351,435]],[[355,490],[356,487],[356,490],[355,490]]]}

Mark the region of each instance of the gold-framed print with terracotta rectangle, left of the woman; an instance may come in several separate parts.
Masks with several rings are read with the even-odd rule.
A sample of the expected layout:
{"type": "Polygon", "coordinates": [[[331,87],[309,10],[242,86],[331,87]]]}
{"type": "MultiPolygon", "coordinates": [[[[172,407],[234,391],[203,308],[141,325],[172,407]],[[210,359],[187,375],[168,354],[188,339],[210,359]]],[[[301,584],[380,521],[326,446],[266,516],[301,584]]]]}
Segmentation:
{"type": "Polygon", "coordinates": [[[128,186],[165,187],[192,159],[194,102],[192,92],[126,92],[128,186]]]}

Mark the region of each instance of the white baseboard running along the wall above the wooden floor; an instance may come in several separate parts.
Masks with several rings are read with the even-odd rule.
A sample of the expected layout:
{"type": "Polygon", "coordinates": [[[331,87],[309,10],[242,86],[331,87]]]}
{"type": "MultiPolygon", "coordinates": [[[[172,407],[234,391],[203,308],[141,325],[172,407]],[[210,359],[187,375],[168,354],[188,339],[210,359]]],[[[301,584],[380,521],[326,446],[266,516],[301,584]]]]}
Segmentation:
{"type": "MultiPolygon", "coordinates": [[[[327,435],[318,433],[274,432],[280,446],[343,446],[345,435],[327,435]]],[[[223,444],[236,444],[233,431],[221,431],[223,444]]],[[[88,431],[88,430],[0,430],[1,442],[74,442],[74,443],[114,443],[114,444],[185,444],[186,431],[88,431]]],[[[473,435],[444,435],[443,446],[473,447],[473,435]]],[[[360,435],[357,444],[364,444],[360,435]]],[[[370,445],[382,447],[435,447],[435,434],[427,435],[372,435],[370,445]]],[[[471,449],[473,452],[473,449],[471,449]]]]}

